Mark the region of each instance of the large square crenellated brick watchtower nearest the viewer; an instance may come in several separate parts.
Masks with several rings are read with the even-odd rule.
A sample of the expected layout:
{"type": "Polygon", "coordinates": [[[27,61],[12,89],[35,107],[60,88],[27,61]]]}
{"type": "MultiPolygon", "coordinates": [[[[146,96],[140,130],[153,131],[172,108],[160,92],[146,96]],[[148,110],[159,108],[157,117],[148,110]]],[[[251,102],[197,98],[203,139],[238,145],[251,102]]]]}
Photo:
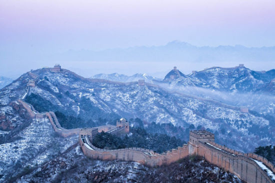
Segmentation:
{"type": "Polygon", "coordinates": [[[197,154],[198,149],[198,142],[207,143],[207,142],[214,142],[214,134],[208,132],[206,130],[193,130],[189,133],[189,155],[197,154]]]}

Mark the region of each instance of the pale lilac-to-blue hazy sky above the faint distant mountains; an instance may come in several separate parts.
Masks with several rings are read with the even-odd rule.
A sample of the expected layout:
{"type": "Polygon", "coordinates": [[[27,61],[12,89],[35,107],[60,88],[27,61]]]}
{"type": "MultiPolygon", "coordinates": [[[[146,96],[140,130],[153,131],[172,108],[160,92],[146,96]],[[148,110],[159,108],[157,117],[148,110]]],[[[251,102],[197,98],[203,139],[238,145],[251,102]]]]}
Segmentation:
{"type": "Polygon", "coordinates": [[[172,40],[274,46],[274,7],[275,0],[0,0],[0,51],[102,50],[172,40]]]}

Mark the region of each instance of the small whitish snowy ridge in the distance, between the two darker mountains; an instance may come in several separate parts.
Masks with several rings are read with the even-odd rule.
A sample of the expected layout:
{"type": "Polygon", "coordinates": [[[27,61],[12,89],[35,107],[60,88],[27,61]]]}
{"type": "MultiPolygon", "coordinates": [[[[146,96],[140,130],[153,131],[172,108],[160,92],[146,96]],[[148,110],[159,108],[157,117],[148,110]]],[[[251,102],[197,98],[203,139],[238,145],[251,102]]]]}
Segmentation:
{"type": "Polygon", "coordinates": [[[119,81],[119,82],[132,82],[132,81],[138,81],[138,80],[144,80],[146,83],[152,83],[152,80],[160,80],[158,78],[155,78],[153,76],[149,76],[148,74],[134,74],[131,76],[127,76],[124,74],[118,74],[118,73],[112,73],[112,74],[96,74],[91,79],[106,79],[110,81],[119,81]]]}

